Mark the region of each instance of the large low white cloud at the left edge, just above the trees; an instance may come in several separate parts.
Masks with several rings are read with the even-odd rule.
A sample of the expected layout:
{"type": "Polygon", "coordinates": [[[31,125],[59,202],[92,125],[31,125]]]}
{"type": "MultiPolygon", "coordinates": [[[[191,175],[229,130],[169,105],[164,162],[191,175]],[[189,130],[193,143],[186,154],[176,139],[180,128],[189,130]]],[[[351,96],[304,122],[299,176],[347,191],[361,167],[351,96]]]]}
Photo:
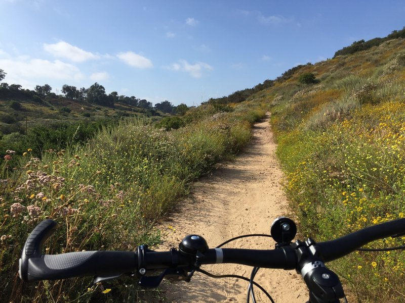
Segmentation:
{"type": "MultiPolygon", "coordinates": [[[[3,52],[2,55],[4,54],[3,52]]],[[[0,66],[7,73],[5,81],[9,84],[20,84],[24,88],[32,89],[38,83],[51,80],[77,82],[85,79],[77,67],[60,60],[32,59],[29,56],[2,57],[4,58],[0,58],[0,66]]]]}

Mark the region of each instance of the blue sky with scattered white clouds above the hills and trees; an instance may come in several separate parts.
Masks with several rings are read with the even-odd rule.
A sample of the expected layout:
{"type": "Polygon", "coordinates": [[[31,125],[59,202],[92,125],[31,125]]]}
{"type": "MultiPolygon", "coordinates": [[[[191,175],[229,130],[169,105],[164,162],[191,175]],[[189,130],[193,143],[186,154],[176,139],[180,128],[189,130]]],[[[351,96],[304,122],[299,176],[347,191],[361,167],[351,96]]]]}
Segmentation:
{"type": "Polygon", "coordinates": [[[403,1],[0,0],[9,84],[198,105],[405,26],[403,1]]]}

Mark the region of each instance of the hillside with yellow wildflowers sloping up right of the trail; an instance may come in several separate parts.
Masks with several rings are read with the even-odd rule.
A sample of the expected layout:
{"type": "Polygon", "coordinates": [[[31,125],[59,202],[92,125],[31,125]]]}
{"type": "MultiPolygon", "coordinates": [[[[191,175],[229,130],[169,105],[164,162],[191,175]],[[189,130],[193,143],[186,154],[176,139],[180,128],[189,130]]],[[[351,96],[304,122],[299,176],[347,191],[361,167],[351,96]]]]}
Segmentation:
{"type": "MultiPolygon", "coordinates": [[[[405,39],[300,66],[250,99],[269,105],[304,234],[327,240],[405,217],[405,39]]],[[[401,250],[352,254],[333,268],[359,301],[405,300],[401,250]]]]}

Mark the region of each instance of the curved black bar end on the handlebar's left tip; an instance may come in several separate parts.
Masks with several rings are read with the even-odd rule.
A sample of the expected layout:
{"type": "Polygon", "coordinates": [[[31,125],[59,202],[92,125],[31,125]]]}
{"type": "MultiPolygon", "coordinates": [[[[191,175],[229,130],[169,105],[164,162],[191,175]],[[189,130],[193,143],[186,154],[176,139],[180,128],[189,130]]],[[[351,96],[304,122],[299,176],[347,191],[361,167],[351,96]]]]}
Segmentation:
{"type": "Polygon", "coordinates": [[[34,230],[29,234],[19,260],[18,274],[21,280],[28,281],[28,260],[30,258],[41,257],[42,245],[54,232],[56,225],[54,220],[47,219],[35,226],[34,230]]]}

